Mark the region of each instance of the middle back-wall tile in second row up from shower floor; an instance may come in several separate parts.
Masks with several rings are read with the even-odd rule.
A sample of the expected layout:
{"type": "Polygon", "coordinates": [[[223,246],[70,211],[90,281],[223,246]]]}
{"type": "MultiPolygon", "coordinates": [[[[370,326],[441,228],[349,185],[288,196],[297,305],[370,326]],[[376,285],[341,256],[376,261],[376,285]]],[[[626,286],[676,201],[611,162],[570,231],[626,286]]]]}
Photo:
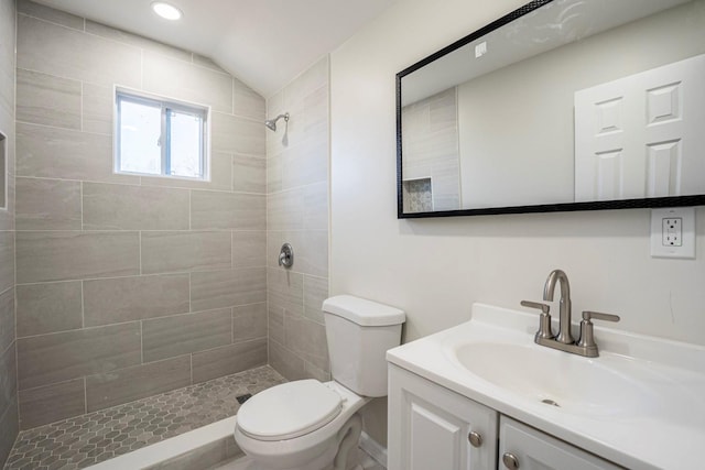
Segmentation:
{"type": "Polygon", "coordinates": [[[229,345],[231,331],[230,308],[144,320],[143,358],[145,362],[159,361],[229,345]]]}

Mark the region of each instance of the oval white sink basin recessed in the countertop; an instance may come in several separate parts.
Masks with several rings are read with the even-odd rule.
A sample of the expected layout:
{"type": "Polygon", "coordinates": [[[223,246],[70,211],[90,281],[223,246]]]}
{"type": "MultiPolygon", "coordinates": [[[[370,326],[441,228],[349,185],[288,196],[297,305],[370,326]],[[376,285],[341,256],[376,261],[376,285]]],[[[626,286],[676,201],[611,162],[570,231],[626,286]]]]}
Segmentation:
{"type": "Polygon", "coordinates": [[[568,413],[610,417],[653,408],[651,391],[599,359],[499,342],[467,343],[453,352],[458,364],[478,378],[568,413]]]}

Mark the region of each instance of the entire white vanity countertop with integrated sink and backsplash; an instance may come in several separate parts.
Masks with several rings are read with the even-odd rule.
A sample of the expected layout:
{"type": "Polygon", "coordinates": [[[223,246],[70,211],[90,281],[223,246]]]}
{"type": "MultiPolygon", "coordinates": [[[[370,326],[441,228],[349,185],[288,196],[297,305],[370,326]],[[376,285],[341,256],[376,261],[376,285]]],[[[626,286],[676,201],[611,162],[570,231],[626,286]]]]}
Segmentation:
{"type": "Polygon", "coordinates": [[[473,305],[469,321],[387,360],[625,468],[702,468],[705,347],[595,328],[598,358],[539,346],[534,314],[473,305]]]}

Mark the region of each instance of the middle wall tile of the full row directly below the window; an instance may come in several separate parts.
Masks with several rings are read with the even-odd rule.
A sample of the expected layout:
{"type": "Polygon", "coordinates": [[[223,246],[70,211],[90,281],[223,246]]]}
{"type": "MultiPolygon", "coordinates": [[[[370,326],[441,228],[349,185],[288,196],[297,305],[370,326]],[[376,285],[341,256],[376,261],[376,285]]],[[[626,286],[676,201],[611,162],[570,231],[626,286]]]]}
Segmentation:
{"type": "Polygon", "coordinates": [[[187,230],[188,192],[83,184],[85,230],[187,230]]]}

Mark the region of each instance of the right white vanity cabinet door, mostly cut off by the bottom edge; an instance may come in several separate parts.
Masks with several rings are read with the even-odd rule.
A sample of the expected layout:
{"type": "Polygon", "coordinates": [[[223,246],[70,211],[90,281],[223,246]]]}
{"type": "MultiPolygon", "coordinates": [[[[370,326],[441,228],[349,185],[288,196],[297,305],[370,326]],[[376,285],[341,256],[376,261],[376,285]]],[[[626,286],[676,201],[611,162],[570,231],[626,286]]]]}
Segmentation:
{"type": "Polygon", "coordinates": [[[621,467],[507,416],[502,416],[500,419],[498,468],[500,470],[621,469],[621,467]],[[511,455],[513,459],[508,455],[511,455]]]}

